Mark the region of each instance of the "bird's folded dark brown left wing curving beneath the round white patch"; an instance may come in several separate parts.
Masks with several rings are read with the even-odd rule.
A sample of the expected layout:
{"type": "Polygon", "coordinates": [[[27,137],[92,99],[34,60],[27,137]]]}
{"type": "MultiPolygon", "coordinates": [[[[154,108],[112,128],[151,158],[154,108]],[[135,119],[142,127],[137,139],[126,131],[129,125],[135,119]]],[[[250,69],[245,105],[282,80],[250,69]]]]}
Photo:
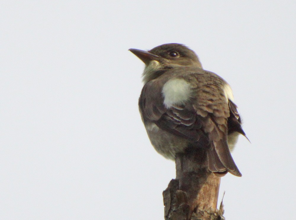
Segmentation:
{"type": "MultiPolygon", "coordinates": [[[[201,116],[188,100],[185,105],[166,108],[162,88],[164,82],[152,80],[146,83],[139,98],[139,108],[145,122],[152,121],[161,129],[191,142],[197,142],[203,134],[201,116]]],[[[203,134],[205,136],[205,134],[203,134]]]]}

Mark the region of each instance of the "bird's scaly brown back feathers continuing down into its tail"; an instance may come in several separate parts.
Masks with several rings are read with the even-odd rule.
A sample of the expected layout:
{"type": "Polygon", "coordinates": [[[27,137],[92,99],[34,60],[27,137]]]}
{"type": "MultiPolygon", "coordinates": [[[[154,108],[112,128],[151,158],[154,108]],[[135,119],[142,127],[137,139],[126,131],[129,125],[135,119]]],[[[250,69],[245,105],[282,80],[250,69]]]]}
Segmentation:
{"type": "Polygon", "coordinates": [[[207,71],[195,75],[191,81],[195,81],[197,94],[193,107],[197,114],[202,116],[202,130],[210,141],[207,153],[209,169],[217,174],[229,171],[241,176],[227,144],[228,118],[232,114],[225,91],[225,86],[228,84],[214,73],[207,71]]]}

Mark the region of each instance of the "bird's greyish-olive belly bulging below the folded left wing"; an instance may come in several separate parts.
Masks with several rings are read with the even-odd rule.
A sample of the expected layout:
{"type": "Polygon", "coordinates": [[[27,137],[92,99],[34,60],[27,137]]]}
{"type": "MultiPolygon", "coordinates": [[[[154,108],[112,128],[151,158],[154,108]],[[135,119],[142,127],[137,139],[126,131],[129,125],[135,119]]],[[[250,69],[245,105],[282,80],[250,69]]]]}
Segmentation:
{"type": "Polygon", "coordinates": [[[155,150],[163,157],[175,160],[176,153],[184,152],[189,141],[160,129],[155,123],[146,126],[147,134],[155,150]]]}

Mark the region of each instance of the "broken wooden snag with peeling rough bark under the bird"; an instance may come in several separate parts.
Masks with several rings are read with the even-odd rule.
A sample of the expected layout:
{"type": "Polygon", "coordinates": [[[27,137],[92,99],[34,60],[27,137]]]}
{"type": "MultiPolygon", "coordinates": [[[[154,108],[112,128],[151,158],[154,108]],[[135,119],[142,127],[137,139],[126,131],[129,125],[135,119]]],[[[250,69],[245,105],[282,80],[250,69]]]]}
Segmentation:
{"type": "Polygon", "coordinates": [[[163,191],[165,220],[222,220],[221,177],[208,171],[203,152],[176,155],[176,179],[163,191]]]}

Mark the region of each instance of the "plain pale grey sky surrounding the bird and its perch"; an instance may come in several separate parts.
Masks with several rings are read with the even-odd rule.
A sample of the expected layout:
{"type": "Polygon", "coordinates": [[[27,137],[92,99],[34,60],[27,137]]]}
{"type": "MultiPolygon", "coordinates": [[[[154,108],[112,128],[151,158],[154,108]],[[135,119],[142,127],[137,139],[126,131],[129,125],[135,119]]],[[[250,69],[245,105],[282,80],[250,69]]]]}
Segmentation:
{"type": "Polygon", "coordinates": [[[295,1],[1,1],[0,219],[163,219],[175,165],[138,112],[129,48],[182,43],[244,121],[225,217],[295,216],[295,1]]]}

